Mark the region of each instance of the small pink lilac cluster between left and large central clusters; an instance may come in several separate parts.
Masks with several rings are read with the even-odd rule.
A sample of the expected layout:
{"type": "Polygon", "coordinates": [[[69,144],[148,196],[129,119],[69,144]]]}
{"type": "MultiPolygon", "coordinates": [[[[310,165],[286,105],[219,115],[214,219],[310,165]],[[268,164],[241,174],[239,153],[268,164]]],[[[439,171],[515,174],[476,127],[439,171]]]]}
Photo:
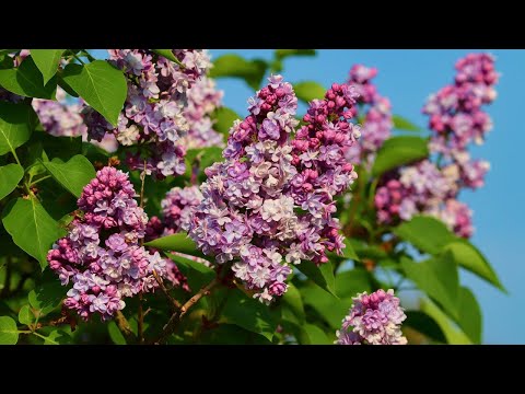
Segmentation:
{"type": "Polygon", "coordinates": [[[174,187],[161,201],[162,220],[152,217],[148,222],[147,237],[156,239],[188,231],[191,216],[202,201],[198,186],[174,187]]]}

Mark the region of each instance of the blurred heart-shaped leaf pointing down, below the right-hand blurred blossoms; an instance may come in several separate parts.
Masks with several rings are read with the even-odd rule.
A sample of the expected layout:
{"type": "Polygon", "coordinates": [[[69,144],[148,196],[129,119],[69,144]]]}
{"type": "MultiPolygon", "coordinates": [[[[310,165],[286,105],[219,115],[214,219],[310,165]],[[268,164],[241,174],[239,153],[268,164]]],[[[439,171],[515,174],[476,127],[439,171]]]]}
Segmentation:
{"type": "Polygon", "coordinates": [[[451,316],[458,317],[459,279],[448,253],[422,263],[404,256],[401,267],[408,279],[438,301],[451,316]]]}

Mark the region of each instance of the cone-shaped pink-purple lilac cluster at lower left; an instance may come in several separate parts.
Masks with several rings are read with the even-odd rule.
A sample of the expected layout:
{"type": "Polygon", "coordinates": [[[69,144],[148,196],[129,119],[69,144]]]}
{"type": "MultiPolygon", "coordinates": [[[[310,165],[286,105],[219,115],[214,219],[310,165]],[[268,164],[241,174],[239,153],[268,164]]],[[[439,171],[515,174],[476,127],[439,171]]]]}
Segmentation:
{"type": "Polygon", "coordinates": [[[140,246],[148,216],[133,197],[126,173],[100,170],[78,200],[81,213],[47,254],[61,283],[73,283],[65,305],[84,320],[95,312],[110,318],[125,308],[124,298],[153,291],[158,287],[153,270],[180,285],[172,262],[140,246]]]}

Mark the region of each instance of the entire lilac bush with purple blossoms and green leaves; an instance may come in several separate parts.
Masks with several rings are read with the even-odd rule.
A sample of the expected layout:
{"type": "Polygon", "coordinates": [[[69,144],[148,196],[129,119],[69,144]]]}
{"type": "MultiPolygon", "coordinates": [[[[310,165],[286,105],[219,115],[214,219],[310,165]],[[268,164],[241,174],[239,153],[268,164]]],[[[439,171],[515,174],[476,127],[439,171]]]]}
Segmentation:
{"type": "Polygon", "coordinates": [[[296,56],[0,50],[0,344],[481,343],[459,270],[505,290],[460,192],[493,57],[455,65],[424,130],[375,68],[325,89],[296,56]]]}

